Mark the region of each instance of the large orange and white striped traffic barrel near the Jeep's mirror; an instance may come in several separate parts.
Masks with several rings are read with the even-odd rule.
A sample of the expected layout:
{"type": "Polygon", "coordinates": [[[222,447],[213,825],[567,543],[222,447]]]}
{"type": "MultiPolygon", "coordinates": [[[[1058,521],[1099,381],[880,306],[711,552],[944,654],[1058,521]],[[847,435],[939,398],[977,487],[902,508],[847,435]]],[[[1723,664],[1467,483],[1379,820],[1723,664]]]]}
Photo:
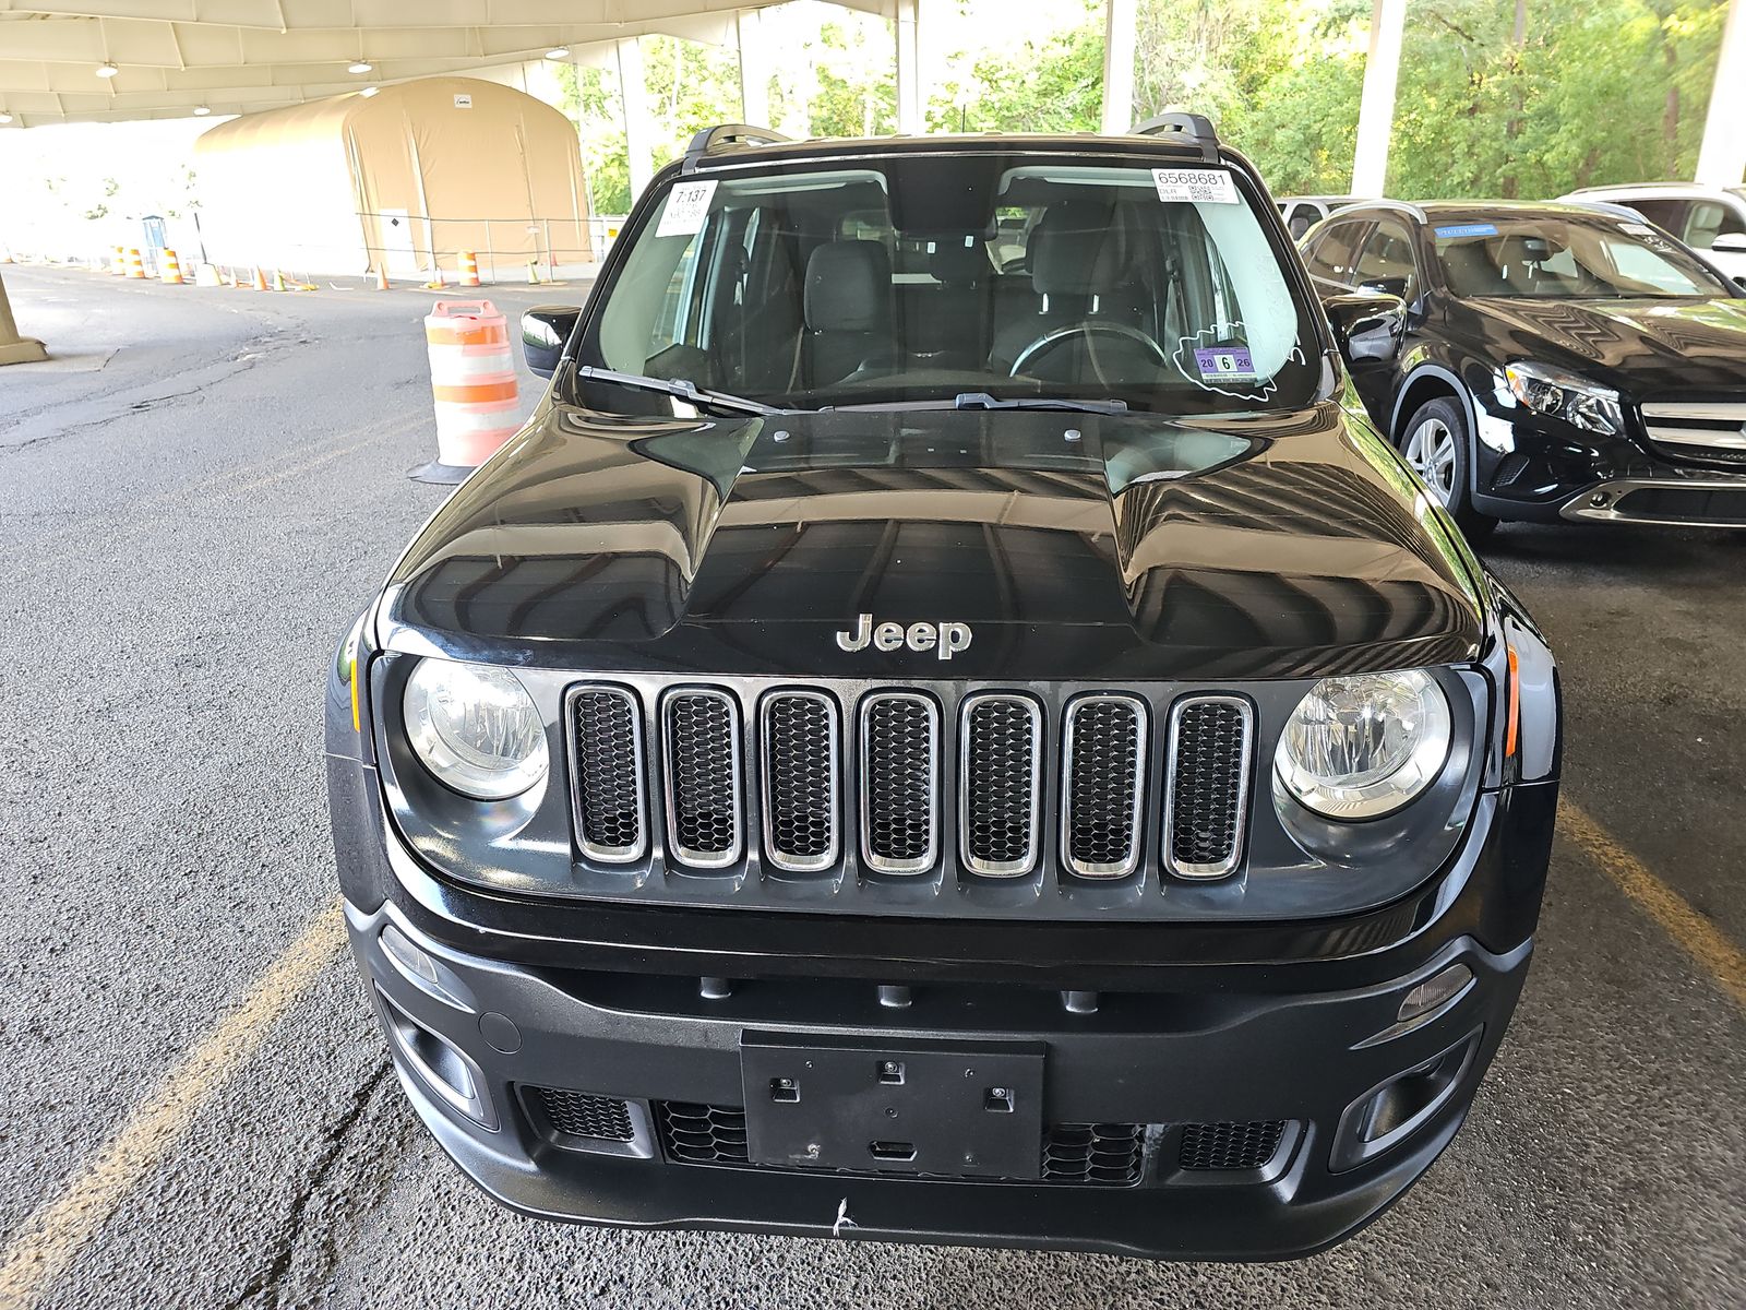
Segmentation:
{"type": "Polygon", "coordinates": [[[473,468],[522,423],[510,325],[491,300],[438,300],[424,320],[436,402],[436,463],[473,468]]]}

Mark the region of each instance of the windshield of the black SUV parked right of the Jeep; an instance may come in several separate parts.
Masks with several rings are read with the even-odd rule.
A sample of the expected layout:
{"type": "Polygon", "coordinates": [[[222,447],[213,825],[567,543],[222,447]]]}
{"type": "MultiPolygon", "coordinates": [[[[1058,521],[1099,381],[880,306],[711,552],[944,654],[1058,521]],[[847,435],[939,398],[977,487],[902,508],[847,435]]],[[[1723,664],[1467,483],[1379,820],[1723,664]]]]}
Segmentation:
{"type": "Polygon", "coordinates": [[[1433,220],[1432,246],[1456,295],[1645,300],[1734,293],[1688,250],[1629,218],[1433,220]]]}

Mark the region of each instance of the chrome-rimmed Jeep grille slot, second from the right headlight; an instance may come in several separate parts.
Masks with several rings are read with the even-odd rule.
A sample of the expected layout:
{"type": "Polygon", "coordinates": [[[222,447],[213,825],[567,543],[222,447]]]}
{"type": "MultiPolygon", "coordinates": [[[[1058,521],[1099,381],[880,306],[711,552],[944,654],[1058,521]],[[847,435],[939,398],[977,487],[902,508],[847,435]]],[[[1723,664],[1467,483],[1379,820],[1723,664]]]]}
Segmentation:
{"type": "Polygon", "coordinates": [[[1067,706],[1062,748],[1062,847],[1083,879],[1124,879],[1140,863],[1145,796],[1145,706],[1095,693],[1067,706]]]}

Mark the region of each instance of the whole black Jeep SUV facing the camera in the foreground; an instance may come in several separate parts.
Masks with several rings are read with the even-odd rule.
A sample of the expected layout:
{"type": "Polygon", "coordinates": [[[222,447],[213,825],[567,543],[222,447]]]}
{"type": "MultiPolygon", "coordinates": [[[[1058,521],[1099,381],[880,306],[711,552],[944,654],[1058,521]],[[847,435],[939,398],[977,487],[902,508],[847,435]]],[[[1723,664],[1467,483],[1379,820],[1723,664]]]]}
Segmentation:
{"type": "Polygon", "coordinates": [[[1215,1259],[1400,1196],[1523,987],[1559,699],[1374,330],[1200,117],[700,134],[333,665],[351,941],[459,1167],[1215,1259]]]}

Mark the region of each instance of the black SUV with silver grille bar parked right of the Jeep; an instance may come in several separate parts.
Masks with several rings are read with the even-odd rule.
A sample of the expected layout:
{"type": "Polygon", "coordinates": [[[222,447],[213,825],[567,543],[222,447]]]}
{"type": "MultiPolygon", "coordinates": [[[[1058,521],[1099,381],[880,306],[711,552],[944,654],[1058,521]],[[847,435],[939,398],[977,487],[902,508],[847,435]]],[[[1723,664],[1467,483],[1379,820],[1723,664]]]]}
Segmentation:
{"type": "Polygon", "coordinates": [[[1660,229],[1390,201],[1301,250],[1330,304],[1378,297],[1353,386],[1468,536],[1505,519],[1746,527],[1746,300],[1660,229]]]}

